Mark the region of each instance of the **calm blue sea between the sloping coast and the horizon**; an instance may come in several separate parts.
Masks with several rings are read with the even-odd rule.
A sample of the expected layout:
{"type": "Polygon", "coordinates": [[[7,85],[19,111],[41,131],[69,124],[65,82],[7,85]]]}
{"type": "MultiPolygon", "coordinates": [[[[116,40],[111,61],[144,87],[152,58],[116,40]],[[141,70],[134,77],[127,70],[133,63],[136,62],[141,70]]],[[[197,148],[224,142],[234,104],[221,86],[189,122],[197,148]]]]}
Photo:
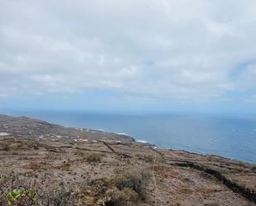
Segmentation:
{"type": "Polygon", "coordinates": [[[12,112],[61,124],[126,133],[162,148],[225,156],[256,163],[256,116],[241,114],[120,114],[12,112]]]}

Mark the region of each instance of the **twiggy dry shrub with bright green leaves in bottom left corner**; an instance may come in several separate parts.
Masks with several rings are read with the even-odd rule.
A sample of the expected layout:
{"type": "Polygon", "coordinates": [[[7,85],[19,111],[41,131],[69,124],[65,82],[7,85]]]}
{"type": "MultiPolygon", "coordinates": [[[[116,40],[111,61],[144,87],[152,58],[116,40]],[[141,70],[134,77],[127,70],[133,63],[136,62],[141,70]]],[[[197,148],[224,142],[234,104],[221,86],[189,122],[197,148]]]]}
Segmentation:
{"type": "Polygon", "coordinates": [[[0,178],[0,205],[12,206],[70,206],[79,205],[79,190],[59,186],[41,189],[33,179],[19,178],[11,173],[0,178]],[[36,186],[37,185],[37,186],[36,186]],[[18,196],[17,196],[18,194],[18,196]]]}

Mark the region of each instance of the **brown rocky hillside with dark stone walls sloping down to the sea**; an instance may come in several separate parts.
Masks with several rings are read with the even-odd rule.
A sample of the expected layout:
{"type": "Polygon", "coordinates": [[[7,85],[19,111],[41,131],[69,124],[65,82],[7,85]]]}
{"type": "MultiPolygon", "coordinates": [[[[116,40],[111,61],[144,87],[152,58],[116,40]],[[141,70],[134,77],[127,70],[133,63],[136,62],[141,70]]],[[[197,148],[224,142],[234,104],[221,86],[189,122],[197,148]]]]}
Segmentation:
{"type": "Polygon", "coordinates": [[[0,115],[0,205],[256,205],[256,165],[0,115]]]}

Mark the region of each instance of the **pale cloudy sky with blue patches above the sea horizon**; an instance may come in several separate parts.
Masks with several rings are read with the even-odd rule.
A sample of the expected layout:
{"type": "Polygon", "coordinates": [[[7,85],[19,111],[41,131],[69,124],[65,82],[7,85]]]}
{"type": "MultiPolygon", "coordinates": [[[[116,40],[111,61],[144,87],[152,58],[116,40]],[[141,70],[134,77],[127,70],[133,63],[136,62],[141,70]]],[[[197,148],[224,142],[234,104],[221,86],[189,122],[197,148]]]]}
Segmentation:
{"type": "Polygon", "coordinates": [[[0,108],[256,112],[255,0],[0,0],[0,108]]]}

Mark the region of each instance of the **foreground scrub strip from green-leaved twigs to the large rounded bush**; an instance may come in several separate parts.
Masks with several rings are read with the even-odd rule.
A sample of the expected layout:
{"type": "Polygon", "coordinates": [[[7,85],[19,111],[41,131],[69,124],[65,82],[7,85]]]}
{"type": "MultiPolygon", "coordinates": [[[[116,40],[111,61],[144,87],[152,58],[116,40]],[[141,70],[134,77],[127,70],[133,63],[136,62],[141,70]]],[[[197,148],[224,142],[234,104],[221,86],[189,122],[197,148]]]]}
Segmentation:
{"type": "Polygon", "coordinates": [[[41,187],[34,175],[0,175],[0,205],[12,206],[132,206],[145,198],[150,176],[144,170],[121,172],[81,184],[41,187]]]}

